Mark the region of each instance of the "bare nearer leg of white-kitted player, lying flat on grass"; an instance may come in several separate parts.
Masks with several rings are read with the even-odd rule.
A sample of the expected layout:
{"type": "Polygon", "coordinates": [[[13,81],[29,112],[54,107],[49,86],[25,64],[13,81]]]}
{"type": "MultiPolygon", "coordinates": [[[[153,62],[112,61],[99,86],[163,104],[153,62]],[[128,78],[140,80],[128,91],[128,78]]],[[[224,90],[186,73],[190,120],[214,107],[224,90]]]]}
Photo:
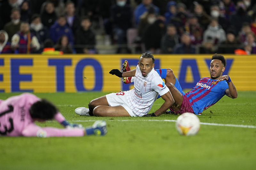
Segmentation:
{"type": "Polygon", "coordinates": [[[93,115],[102,117],[131,116],[123,106],[97,106],[93,109],[93,115]]]}

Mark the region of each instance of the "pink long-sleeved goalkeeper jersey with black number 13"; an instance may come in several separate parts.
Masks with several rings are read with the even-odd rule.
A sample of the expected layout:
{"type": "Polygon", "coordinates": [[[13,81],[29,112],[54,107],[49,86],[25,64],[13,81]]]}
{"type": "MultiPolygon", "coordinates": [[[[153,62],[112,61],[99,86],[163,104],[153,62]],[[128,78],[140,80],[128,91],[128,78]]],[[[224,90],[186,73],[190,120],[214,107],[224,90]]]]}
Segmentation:
{"type": "MultiPolygon", "coordinates": [[[[37,126],[29,114],[29,109],[38,100],[40,99],[31,93],[23,93],[6,100],[0,100],[0,136],[84,136],[83,129],[57,129],[37,126]]],[[[58,122],[65,120],[60,113],[57,113],[54,118],[58,122]]]]}

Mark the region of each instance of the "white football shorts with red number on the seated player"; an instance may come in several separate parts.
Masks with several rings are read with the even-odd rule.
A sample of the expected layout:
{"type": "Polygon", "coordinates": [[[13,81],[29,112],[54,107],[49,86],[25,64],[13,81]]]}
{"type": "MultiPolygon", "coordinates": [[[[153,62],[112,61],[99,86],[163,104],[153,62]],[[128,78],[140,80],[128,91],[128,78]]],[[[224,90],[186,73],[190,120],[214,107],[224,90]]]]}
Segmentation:
{"type": "Polygon", "coordinates": [[[106,98],[108,100],[109,106],[123,106],[125,110],[131,115],[132,117],[135,117],[137,115],[133,114],[132,109],[127,103],[126,100],[126,92],[118,92],[118,93],[110,93],[106,95],[106,98]]]}

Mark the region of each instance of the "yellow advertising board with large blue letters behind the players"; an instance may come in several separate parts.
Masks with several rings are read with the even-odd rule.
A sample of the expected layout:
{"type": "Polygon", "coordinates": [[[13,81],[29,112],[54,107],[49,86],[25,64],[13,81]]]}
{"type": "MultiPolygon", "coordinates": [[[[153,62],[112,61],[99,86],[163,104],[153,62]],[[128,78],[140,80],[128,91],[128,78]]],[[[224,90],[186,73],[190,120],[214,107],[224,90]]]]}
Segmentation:
{"type": "MultiPolygon", "coordinates": [[[[256,90],[256,55],[224,55],[238,91],[256,90]]],[[[124,60],[136,68],[140,54],[129,55],[0,55],[0,92],[116,92],[129,90],[121,78],[124,60]],[[84,78],[86,77],[86,78],[84,78]]],[[[154,55],[155,69],[171,68],[183,89],[209,77],[212,55],[154,55]]]]}

